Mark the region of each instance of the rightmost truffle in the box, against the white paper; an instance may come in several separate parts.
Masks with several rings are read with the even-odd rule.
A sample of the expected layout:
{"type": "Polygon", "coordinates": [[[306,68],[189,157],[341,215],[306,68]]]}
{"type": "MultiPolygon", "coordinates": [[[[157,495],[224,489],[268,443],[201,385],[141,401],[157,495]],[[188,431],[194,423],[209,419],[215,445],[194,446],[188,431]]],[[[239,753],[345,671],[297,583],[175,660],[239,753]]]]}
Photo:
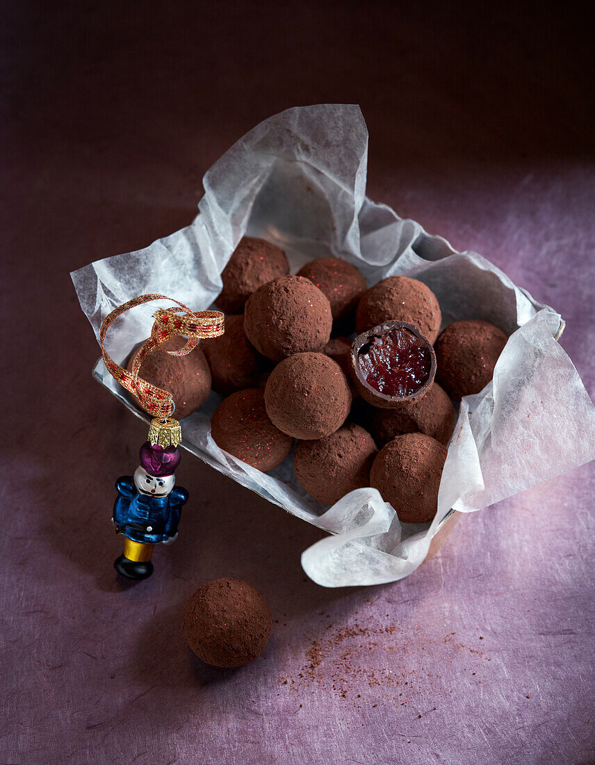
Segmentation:
{"type": "Polygon", "coordinates": [[[487,321],[455,321],[436,341],[437,379],[444,390],[460,399],[479,393],[494,374],[506,345],[506,334],[487,321]]]}

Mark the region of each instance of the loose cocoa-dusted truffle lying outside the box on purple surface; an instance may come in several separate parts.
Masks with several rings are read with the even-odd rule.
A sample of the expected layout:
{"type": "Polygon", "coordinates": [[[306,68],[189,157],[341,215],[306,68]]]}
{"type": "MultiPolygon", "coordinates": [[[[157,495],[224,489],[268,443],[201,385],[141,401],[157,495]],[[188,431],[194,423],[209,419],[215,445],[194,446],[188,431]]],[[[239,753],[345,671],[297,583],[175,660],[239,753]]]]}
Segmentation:
{"type": "Polygon", "coordinates": [[[199,659],[216,667],[238,667],[260,656],[273,620],[265,598],[239,579],[215,579],[188,598],[184,638],[199,659]]]}

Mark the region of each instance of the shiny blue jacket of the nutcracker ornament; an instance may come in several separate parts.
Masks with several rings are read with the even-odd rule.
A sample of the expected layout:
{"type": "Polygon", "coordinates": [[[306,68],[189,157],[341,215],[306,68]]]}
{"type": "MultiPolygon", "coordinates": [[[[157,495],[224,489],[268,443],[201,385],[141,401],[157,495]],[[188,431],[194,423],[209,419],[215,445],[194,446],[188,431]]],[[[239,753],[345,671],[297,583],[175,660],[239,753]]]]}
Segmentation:
{"type": "Polygon", "coordinates": [[[182,506],[188,501],[187,490],[174,486],[164,496],[141,494],[132,476],[119,478],[115,488],[114,523],[120,534],[146,545],[167,542],[176,535],[182,506]]]}

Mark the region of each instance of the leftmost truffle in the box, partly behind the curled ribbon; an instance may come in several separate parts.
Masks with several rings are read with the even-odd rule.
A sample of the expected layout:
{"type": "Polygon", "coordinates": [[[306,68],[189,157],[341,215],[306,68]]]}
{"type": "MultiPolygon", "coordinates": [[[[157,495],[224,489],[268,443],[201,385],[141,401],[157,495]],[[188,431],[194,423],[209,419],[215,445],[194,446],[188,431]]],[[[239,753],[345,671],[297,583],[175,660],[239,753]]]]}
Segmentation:
{"type": "MultiPolygon", "coordinates": [[[[166,350],[180,350],[186,343],[186,338],[180,335],[166,340],[161,345],[165,350],[155,348],[145,356],[138,373],[142,379],[171,393],[176,405],[174,417],[178,420],[195,412],[211,392],[211,373],[204,353],[200,350],[200,343],[186,356],[170,356],[165,353],[166,350]]],[[[128,371],[132,369],[136,353],[138,350],[128,361],[128,371]]],[[[133,398],[142,409],[136,396],[133,398]]]]}

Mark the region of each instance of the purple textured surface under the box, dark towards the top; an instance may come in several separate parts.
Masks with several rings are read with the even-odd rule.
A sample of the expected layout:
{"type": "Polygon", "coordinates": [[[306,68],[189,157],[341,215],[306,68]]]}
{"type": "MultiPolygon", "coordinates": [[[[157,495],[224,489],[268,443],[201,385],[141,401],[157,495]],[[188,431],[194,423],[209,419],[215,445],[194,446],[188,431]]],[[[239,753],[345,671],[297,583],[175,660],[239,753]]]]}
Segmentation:
{"type": "Polygon", "coordinates": [[[287,106],[360,103],[369,196],[561,311],[593,394],[589,26],[423,5],[3,4],[2,763],[595,761],[593,464],[463,517],[405,581],[328,591],[299,562],[320,532],[186,455],[178,541],[144,583],[112,569],[146,431],[91,380],[68,272],[188,223],[287,106]],[[276,620],[242,669],[182,636],[220,576],[276,620]]]}

